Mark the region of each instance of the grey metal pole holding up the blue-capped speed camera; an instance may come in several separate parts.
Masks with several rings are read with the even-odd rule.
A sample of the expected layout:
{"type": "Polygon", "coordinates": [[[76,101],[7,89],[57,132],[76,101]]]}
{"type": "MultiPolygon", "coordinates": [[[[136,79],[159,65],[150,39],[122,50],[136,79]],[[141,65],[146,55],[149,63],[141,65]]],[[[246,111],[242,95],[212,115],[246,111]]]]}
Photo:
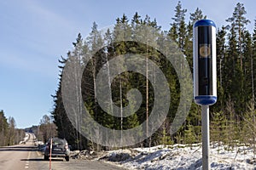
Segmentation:
{"type": "Polygon", "coordinates": [[[209,105],[201,106],[202,169],[210,170],[209,105]]]}

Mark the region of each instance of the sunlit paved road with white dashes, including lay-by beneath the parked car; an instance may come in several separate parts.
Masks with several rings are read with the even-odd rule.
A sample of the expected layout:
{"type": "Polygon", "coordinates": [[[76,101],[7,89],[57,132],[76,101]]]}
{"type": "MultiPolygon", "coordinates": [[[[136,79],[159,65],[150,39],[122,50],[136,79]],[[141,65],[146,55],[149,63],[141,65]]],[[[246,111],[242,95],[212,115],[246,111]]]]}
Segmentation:
{"type": "MultiPolygon", "coordinates": [[[[47,170],[49,169],[49,161],[44,161],[44,156],[37,150],[33,143],[34,136],[29,133],[29,139],[26,144],[18,144],[14,146],[6,146],[0,148],[0,170],[47,170]]],[[[52,170],[124,170],[124,168],[116,167],[102,161],[86,161],[73,160],[65,161],[61,158],[53,158],[51,161],[52,170]]]]}

